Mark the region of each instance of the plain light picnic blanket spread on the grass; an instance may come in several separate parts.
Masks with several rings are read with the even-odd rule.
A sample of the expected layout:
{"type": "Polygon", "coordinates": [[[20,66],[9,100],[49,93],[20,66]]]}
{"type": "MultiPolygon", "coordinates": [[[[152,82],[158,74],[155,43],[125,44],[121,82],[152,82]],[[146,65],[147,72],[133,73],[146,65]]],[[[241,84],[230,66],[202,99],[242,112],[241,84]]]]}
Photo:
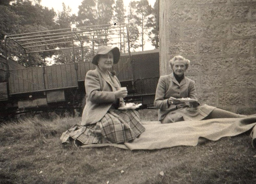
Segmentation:
{"type": "Polygon", "coordinates": [[[115,146],[129,150],[154,150],[173,146],[196,146],[201,140],[217,141],[251,131],[252,146],[256,147],[256,115],[245,118],[217,118],[182,121],[168,124],[142,122],[146,130],[132,142],[123,144],[90,144],[81,147],[115,146]],[[203,138],[203,139],[202,139],[203,138]]]}

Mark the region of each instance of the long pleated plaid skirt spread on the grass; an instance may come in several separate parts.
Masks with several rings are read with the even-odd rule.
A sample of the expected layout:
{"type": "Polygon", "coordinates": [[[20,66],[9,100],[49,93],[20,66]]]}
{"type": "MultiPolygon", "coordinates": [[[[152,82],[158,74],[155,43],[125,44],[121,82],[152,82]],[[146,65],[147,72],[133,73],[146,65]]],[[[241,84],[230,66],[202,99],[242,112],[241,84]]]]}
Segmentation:
{"type": "Polygon", "coordinates": [[[60,139],[75,142],[76,145],[123,143],[134,140],[145,127],[136,110],[110,109],[97,123],[87,126],[74,125],[65,131],[60,139]]]}

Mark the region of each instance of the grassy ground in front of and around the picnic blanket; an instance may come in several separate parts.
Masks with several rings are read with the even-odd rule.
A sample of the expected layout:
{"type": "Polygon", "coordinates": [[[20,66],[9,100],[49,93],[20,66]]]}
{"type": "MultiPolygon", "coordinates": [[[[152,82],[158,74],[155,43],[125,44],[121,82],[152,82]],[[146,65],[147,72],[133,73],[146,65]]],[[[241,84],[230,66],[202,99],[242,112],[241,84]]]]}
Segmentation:
{"type": "MultiPolygon", "coordinates": [[[[156,110],[139,110],[155,121],[156,110]]],[[[203,145],[161,150],[63,146],[81,117],[27,118],[0,126],[0,184],[251,184],[256,150],[250,132],[203,145]]]]}

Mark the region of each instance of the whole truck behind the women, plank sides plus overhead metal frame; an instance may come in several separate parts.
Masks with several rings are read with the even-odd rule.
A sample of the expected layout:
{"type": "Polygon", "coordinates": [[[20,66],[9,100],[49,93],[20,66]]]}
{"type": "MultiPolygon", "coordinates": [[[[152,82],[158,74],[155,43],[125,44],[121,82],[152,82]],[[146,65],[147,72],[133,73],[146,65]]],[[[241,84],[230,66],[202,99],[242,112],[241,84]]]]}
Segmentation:
{"type": "MultiPolygon", "coordinates": [[[[85,74],[95,69],[90,61],[100,45],[118,46],[121,51],[120,61],[113,70],[121,85],[128,89],[125,100],[142,103],[144,108],[153,104],[159,78],[159,50],[131,53],[129,27],[124,23],[6,35],[4,43],[6,58],[2,56],[0,73],[1,116],[27,111],[75,109],[81,112],[85,105],[85,74]],[[27,68],[8,59],[11,55],[9,42],[22,48],[24,53],[21,54],[29,61],[30,54],[61,55],[63,50],[69,50],[72,61],[27,68]]],[[[43,59],[43,55],[40,57],[43,59]]]]}

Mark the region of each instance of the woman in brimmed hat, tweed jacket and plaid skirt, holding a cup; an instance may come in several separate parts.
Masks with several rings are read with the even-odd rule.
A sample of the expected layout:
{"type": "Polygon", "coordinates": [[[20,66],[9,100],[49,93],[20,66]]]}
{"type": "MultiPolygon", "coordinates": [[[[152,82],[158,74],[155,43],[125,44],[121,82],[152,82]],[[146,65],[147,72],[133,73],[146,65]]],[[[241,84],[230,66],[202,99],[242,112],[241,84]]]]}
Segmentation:
{"type": "Polygon", "coordinates": [[[86,127],[88,139],[83,144],[129,142],[145,130],[137,111],[118,109],[125,106],[123,98],[127,96],[127,89],[121,88],[116,75],[110,72],[119,57],[118,47],[99,46],[92,61],[96,69],[86,73],[81,125],[86,127]]]}

